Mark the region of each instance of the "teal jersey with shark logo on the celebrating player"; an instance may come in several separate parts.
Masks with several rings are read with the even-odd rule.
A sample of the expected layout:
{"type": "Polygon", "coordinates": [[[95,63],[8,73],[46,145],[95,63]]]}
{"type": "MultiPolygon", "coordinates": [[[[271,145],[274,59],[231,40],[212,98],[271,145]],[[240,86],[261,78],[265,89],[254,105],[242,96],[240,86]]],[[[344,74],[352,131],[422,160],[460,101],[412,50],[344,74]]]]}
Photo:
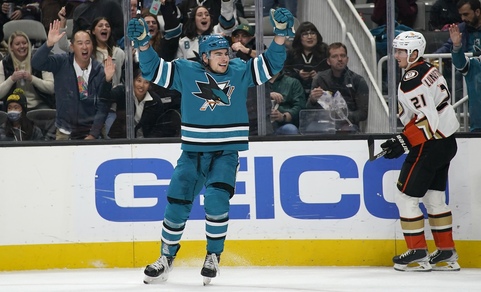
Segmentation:
{"type": "Polygon", "coordinates": [[[274,41],[248,62],[230,60],[224,74],[211,73],[198,62],[165,62],[152,47],[139,54],[142,77],[182,94],[181,149],[195,152],[249,149],[247,88],[277,74],[285,59],[285,46],[274,41]]]}

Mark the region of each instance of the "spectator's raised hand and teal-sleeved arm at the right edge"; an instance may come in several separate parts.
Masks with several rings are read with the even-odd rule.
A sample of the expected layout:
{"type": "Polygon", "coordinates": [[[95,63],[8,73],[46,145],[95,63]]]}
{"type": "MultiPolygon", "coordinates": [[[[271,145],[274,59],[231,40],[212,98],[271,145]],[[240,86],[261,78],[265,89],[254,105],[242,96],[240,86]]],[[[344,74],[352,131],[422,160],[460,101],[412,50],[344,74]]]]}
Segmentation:
{"type": "Polygon", "coordinates": [[[481,59],[480,57],[468,58],[464,55],[461,39],[463,34],[459,27],[452,24],[449,27],[449,36],[453,41],[451,56],[453,65],[464,75],[469,97],[469,127],[471,132],[481,132],[481,59]]]}

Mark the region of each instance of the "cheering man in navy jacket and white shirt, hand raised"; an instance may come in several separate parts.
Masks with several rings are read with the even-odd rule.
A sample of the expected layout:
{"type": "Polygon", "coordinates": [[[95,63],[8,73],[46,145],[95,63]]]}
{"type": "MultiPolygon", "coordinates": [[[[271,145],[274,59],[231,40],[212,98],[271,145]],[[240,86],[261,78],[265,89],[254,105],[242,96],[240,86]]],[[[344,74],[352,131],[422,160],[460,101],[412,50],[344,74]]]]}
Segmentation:
{"type": "Polygon", "coordinates": [[[109,105],[99,98],[105,74],[101,63],[91,59],[90,34],[81,30],[73,36],[73,52],[49,55],[59,34],[60,22],[50,25],[47,41],[32,57],[32,67],[53,73],[57,115],[56,140],[97,139],[107,118],[109,105]]]}

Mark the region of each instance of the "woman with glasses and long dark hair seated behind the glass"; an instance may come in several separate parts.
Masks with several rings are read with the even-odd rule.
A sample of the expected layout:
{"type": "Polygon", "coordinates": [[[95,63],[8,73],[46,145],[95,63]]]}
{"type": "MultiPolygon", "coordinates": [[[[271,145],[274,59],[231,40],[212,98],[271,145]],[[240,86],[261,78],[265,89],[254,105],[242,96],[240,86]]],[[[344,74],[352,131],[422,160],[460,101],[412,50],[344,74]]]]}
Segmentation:
{"type": "Polygon", "coordinates": [[[329,69],[326,48],[322,36],[316,26],[310,22],[303,22],[296,29],[296,36],[292,41],[292,49],[287,51],[284,69],[286,74],[301,81],[305,98],[311,92],[312,78],[317,72],[329,69]]]}

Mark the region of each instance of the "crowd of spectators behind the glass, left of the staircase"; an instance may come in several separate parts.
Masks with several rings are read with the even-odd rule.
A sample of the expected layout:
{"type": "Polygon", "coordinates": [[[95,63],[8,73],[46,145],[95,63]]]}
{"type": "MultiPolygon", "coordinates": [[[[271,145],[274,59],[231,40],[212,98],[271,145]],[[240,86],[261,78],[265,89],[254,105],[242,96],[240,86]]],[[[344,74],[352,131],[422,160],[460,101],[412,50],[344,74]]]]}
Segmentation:
{"type": "MultiPolygon", "coordinates": [[[[296,1],[271,2],[269,5],[275,8],[283,2],[295,6],[296,1]]],[[[131,6],[127,7],[131,17],[136,17],[136,3],[131,0],[131,6]]],[[[199,61],[198,41],[209,34],[225,35],[234,57],[247,61],[259,53],[259,48],[255,46],[254,28],[240,21],[240,3],[239,0],[144,1],[141,16],[152,35],[151,46],[165,61],[175,58],[199,61]]],[[[127,138],[130,115],[134,117],[136,138],[180,136],[180,93],[143,79],[135,48],[128,48],[133,57],[133,92],[126,90],[121,4],[123,1],[119,0],[4,0],[0,13],[3,24],[18,19],[35,20],[44,25],[48,38],[43,44],[33,46],[28,32],[15,31],[6,36],[6,51],[0,61],[0,103],[8,118],[1,125],[0,141],[127,138]],[[67,27],[67,19],[72,19],[73,27],[67,27]],[[69,29],[72,33],[67,36],[69,29]],[[13,96],[18,97],[15,102],[13,96]],[[133,103],[132,113],[127,113],[127,102],[133,103]],[[55,111],[53,135],[46,135],[45,129],[39,132],[36,121],[27,117],[34,110],[55,111]],[[27,135],[20,135],[25,130],[27,135]]],[[[292,11],[295,13],[295,9],[292,11]]],[[[367,97],[358,97],[352,79],[366,82],[347,68],[347,60],[329,59],[328,44],[322,40],[321,32],[310,22],[297,28],[284,70],[266,83],[267,134],[299,134],[300,112],[316,100],[320,86],[323,92],[342,94],[350,114],[355,115],[353,132],[360,131],[357,124],[367,118],[367,97]],[[334,71],[328,73],[336,65],[339,76],[334,71]],[[314,83],[321,75],[335,80],[335,85],[314,83]]],[[[345,46],[343,50],[346,55],[345,46]]],[[[248,90],[246,106],[251,135],[257,135],[255,87],[248,90]]],[[[317,104],[315,109],[323,107],[317,104]]]]}

